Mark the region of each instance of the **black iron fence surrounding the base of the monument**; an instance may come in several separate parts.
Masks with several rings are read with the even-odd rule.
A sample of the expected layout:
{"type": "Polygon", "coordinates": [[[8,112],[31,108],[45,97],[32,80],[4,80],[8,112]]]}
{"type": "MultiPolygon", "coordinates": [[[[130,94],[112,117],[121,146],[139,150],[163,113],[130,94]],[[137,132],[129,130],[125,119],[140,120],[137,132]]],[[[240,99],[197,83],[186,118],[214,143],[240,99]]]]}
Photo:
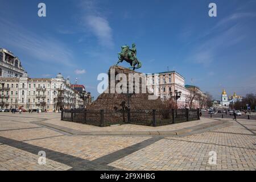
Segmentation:
{"type": "Polygon", "coordinates": [[[62,110],[61,120],[96,126],[122,125],[125,123],[161,126],[198,120],[199,109],[166,110],[62,110]]]}

